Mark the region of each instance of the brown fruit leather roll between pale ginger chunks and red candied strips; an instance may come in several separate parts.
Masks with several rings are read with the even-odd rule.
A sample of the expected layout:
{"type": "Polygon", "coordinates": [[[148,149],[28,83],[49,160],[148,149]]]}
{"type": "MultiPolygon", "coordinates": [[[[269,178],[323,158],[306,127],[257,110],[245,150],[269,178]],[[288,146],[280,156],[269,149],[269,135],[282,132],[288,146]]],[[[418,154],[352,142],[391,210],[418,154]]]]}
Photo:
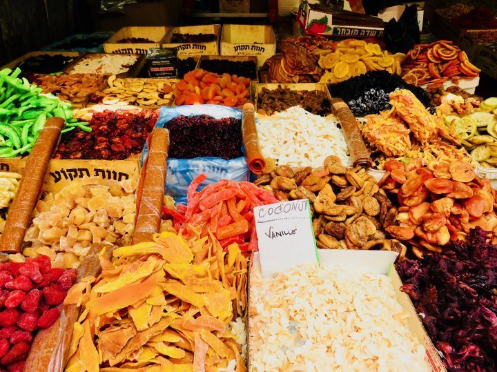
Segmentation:
{"type": "Polygon", "coordinates": [[[133,244],[152,241],[159,232],[164,187],[166,186],[167,159],[169,152],[169,130],[155,128],[144,167],[141,192],[137,195],[137,217],[133,244]]]}

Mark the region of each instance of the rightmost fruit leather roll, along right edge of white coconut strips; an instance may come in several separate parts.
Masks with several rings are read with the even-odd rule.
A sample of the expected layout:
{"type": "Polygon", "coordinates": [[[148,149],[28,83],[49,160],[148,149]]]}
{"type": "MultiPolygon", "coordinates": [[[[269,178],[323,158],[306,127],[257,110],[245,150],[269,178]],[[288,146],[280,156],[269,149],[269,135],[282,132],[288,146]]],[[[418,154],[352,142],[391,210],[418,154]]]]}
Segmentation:
{"type": "Polygon", "coordinates": [[[353,166],[362,166],[362,168],[371,168],[373,161],[371,160],[371,152],[366,148],[362,133],[355,121],[352,111],[349,106],[341,98],[331,99],[333,112],[340,120],[340,126],[344,133],[345,141],[349,147],[349,154],[353,166]]]}

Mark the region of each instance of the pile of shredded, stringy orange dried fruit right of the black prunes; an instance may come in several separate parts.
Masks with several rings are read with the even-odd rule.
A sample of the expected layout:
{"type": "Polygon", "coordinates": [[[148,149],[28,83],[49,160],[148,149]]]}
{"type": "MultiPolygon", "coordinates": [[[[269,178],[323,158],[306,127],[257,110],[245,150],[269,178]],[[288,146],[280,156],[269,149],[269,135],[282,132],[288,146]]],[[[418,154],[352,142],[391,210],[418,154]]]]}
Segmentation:
{"type": "MultiPolygon", "coordinates": [[[[456,135],[440,117],[431,115],[409,90],[391,93],[390,104],[391,110],[367,115],[366,124],[360,126],[369,145],[384,155],[378,161],[382,163],[385,157],[405,157],[421,159],[423,164],[450,163],[455,159],[470,162],[456,135]]],[[[377,164],[380,169],[381,163],[377,164]]]]}

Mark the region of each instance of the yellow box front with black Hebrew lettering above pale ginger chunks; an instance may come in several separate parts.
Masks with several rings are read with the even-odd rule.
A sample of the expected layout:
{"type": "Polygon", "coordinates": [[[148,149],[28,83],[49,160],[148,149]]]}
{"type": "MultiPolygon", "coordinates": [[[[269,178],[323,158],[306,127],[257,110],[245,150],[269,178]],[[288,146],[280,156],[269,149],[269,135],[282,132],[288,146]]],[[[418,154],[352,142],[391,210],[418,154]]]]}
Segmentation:
{"type": "Polygon", "coordinates": [[[43,190],[58,193],[75,180],[99,178],[138,182],[139,155],[126,160],[52,159],[48,165],[43,190]]]}

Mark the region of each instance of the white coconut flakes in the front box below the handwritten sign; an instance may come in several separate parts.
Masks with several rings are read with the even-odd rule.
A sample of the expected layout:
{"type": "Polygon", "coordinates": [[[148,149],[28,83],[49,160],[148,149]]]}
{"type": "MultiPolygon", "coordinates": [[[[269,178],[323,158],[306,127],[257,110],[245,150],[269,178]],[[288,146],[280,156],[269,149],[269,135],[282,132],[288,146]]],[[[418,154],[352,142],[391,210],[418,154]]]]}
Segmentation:
{"type": "Polygon", "coordinates": [[[349,266],[251,274],[250,371],[431,371],[389,277],[349,266]]]}

